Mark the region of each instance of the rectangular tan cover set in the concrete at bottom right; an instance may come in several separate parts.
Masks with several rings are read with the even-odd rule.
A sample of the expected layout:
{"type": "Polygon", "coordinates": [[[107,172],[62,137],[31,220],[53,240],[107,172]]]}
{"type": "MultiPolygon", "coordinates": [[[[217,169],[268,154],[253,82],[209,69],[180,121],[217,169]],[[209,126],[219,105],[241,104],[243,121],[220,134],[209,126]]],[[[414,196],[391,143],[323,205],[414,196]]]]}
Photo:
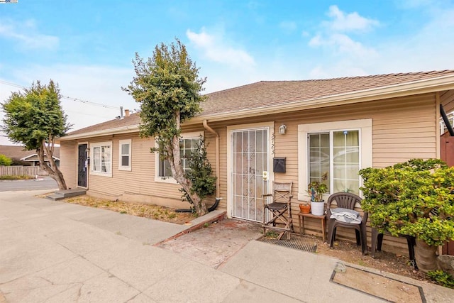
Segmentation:
{"type": "Polygon", "coordinates": [[[387,302],[426,303],[422,287],[342,263],[336,264],[336,269],[333,270],[330,281],[384,299],[387,302]]]}

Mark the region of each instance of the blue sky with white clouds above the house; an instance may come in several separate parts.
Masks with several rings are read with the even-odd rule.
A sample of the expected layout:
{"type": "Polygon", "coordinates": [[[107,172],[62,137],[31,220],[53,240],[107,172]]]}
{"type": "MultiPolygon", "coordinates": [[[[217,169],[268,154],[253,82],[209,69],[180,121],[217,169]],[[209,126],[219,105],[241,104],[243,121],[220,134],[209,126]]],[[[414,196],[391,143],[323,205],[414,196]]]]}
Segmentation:
{"type": "Polygon", "coordinates": [[[205,92],[260,80],[454,69],[454,1],[0,4],[0,101],[53,79],[72,98],[62,106],[73,129],[114,119],[119,106],[138,109],[121,90],[134,76],[135,52],[150,57],[175,38],[207,77],[205,92]]]}

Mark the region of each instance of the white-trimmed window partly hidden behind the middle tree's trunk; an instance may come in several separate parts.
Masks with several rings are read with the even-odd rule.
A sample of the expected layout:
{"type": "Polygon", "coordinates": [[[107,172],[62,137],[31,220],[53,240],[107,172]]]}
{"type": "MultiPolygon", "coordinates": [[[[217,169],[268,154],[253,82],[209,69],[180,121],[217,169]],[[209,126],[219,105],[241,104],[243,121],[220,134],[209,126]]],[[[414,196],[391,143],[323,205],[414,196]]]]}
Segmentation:
{"type": "MultiPolygon", "coordinates": [[[[179,152],[182,160],[183,169],[189,170],[187,166],[187,157],[196,150],[196,144],[199,143],[200,136],[203,133],[183,133],[182,138],[179,140],[179,152]]],[[[155,180],[160,182],[175,183],[176,181],[172,177],[172,170],[170,169],[170,163],[167,160],[160,160],[159,154],[156,153],[156,174],[155,180]]]]}

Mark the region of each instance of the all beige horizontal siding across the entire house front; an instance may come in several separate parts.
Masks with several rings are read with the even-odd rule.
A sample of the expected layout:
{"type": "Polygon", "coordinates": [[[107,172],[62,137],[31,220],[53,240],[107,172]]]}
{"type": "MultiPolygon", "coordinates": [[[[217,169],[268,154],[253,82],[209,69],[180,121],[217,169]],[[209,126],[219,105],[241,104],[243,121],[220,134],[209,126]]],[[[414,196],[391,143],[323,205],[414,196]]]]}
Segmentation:
{"type": "MultiPolygon", "coordinates": [[[[442,102],[450,99],[452,92],[441,95],[442,102]]],[[[454,103],[446,101],[446,104],[454,103]]],[[[275,173],[276,181],[294,182],[294,204],[292,213],[294,225],[297,226],[297,213],[299,212],[298,197],[298,126],[307,123],[325,123],[331,121],[345,121],[358,119],[372,119],[372,163],[374,167],[385,167],[411,158],[436,158],[437,155],[437,102],[436,94],[420,94],[411,97],[368,101],[360,104],[331,106],[321,109],[294,111],[286,114],[272,116],[250,117],[221,122],[208,122],[209,126],[219,134],[219,167],[216,167],[215,137],[209,131],[204,131],[203,126],[191,126],[184,131],[204,131],[208,147],[208,155],[214,170],[219,169],[220,181],[220,208],[227,209],[228,202],[228,167],[227,159],[227,126],[236,126],[246,123],[265,123],[274,121],[275,134],[273,154],[271,157],[286,157],[287,172],[275,173]],[[287,126],[284,135],[278,133],[281,124],[287,126]]],[[[177,184],[155,182],[155,155],[150,153],[153,140],[139,138],[138,133],[104,136],[99,138],[84,139],[89,143],[112,141],[112,177],[89,175],[89,193],[103,194],[118,199],[133,200],[138,202],[152,202],[167,206],[184,207],[180,202],[181,193],[177,184]],[[132,138],[132,170],[118,170],[118,141],[132,138]]],[[[77,143],[63,142],[61,150],[62,171],[68,182],[75,186],[77,180],[77,143]],[[71,155],[73,153],[74,155],[71,155]],[[71,164],[70,164],[71,163],[71,164]]],[[[270,167],[272,170],[272,167],[270,167]]],[[[304,189],[301,189],[304,191],[304,189]]],[[[319,220],[306,219],[306,232],[320,233],[319,220]]],[[[343,232],[339,228],[338,236],[353,238],[354,233],[343,232]]],[[[370,235],[368,236],[370,238],[370,235]]],[[[384,250],[404,251],[405,241],[397,238],[387,238],[384,250]]],[[[370,243],[369,243],[370,245],[370,243]]]]}

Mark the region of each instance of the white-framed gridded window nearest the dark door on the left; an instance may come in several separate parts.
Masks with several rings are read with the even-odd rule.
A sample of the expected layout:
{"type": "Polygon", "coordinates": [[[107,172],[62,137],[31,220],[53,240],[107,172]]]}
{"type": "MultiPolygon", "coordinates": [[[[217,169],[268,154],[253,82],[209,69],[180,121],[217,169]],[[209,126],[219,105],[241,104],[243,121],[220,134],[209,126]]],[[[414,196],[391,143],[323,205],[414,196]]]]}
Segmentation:
{"type": "Polygon", "coordinates": [[[112,142],[90,144],[90,167],[93,175],[112,177],[112,142]]]}

